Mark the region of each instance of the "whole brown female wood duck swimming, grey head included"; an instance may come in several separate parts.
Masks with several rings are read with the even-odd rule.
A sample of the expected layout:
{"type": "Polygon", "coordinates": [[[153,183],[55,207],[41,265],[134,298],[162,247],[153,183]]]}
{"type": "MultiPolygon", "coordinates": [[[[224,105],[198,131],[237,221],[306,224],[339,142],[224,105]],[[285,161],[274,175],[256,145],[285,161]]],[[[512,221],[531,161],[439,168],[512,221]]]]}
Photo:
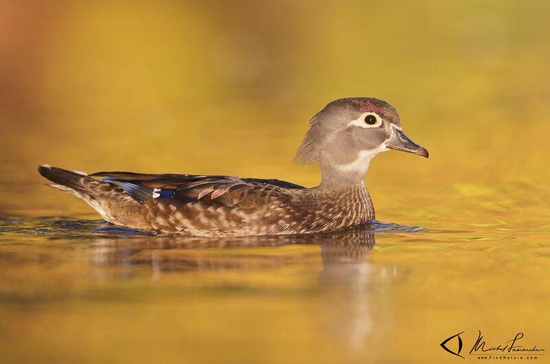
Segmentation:
{"type": "Polygon", "coordinates": [[[395,149],[428,157],[401,131],[397,111],[375,98],[344,98],[311,118],[297,163],[316,162],[317,187],[277,179],[99,172],[40,166],[52,187],[83,198],[105,220],[151,234],[251,236],[314,233],[375,218],[364,176],[395,149]],[[101,177],[101,179],[96,179],[101,177]]]}

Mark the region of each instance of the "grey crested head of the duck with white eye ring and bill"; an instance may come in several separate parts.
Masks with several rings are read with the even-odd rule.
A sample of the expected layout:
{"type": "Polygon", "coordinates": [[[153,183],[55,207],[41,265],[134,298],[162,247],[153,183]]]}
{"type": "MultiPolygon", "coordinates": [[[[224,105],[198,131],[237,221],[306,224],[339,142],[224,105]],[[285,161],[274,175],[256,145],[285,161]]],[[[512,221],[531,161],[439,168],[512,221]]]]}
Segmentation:
{"type": "Polygon", "coordinates": [[[330,102],[311,118],[294,160],[316,162],[322,172],[364,176],[371,159],[391,149],[428,158],[428,150],[403,133],[393,106],[375,98],[344,98],[330,102]]]}

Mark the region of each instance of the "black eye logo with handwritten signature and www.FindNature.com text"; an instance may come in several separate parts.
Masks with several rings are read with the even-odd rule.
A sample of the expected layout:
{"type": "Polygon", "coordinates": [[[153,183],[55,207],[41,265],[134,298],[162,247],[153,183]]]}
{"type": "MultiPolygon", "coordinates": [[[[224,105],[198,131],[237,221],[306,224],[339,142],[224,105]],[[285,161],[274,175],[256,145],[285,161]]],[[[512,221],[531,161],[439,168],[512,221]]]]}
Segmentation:
{"type": "MultiPolygon", "coordinates": [[[[449,337],[448,339],[445,339],[441,344],[441,348],[443,348],[446,352],[460,356],[462,359],[465,359],[464,356],[460,354],[463,348],[463,341],[460,337],[463,332],[459,332],[458,334],[452,335],[452,337],[449,337]],[[453,343],[457,344],[453,344],[453,343]],[[451,348],[458,347],[458,350],[453,351],[451,348]]],[[[516,336],[512,339],[509,339],[508,341],[505,341],[504,343],[498,343],[498,345],[489,344],[485,339],[483,339],[483,335],[481,334],[481,330],[478,330],[478,337],[472,346],[472,349],[470,350],[470,353],[468,355],[477,355],[478,359],[480,356],[484,356],[485,354],[499,354],[499,359],[536,359],[536,355],[544,355],[540,352],[544,352],[544,349],[537,348],[536,345],[521,345],[521,339],[525,337],[525,334],[523,332],[518,332],[516,336]],[[504,357],[503,357],[504,356],[504,357]]],[[[487,359],[485,357],[484,359],[487,359]]],[[[488,359],[492,359],[492,356],[489,356],[488,359]]]]}

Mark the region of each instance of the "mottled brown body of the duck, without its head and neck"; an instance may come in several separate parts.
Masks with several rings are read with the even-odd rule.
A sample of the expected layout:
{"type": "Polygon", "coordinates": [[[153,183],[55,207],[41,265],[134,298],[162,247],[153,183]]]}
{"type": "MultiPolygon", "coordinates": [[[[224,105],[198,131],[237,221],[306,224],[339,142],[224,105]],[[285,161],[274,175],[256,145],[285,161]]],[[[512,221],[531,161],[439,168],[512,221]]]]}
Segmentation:
{"type": "Polygon", "coordinates": [[[374,218],[364,184],[338,191],[276,179],[131,172],[83,175],[51,166],[41,166],[39,172],[56,182],[52,187],[83,198],[109,223],[147,233],[304,234],[353,227],[374,218]]]}

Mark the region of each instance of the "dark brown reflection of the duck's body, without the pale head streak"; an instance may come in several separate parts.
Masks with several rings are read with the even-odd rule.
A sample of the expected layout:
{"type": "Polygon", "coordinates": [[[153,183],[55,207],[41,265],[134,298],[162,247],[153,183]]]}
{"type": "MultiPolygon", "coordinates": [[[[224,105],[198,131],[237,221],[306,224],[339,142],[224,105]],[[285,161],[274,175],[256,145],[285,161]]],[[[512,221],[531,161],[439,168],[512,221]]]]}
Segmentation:
{"type": "Polygon", "coordinates": [[[101,266],[151,266],[155,273],[195,269],[240,269],[248,266],[288,264],[292,257],[247,253],[232,249],[284,247],[287,245],[320,247],[322,272],[320,282],[341,281],[344,271],[364,264],[365,256],[375,244],[372,231],[356,229],[324,234],[292,236],[249,236],[239,238],[186,238],[129,236],[105,237],[92,242],[91,263],[101,266]],[[224,249],[227,254],[212,253],[224,249]],[[227,250],[226,250],[227,249],[227,250]],[[210,252],[209,252],[210,251],[210,252]],[[342,268],[347,267],[342,271],[342,268]],[[338,278],[340,277],[340,278],[338,278]]]}

